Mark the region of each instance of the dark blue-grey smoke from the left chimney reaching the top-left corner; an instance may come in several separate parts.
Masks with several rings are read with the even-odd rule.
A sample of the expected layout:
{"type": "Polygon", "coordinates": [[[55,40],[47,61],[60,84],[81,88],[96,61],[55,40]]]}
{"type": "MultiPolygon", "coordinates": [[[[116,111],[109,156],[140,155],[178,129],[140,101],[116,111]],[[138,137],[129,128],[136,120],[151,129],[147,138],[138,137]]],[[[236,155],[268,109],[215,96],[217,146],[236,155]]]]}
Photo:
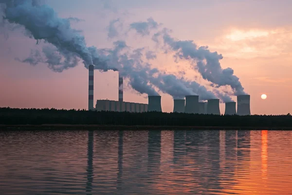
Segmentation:
{"type": "MultiPolygon", "coordinates": [[[[108,67],[106,62],[97,54],[95,47],[87,47],[84,36],[79,31],[71,28],[71,19],[59,18],[53,8],[45,4],[39,4],[37,0],[0,0],[3,5],[3,18],[12,23],[18,24],[25,28],[26,33],[30,38],[44,40],[46,43],[51,43],[56,50],[53,55],[44,53],[46,59],[39,62],[48,63],[56,72],[62,72],[77,65],[74,63],[75,58],[80,58],[88,68],[94,64],[95,69],[107,71],[114,69],[108,67]],[[60,57],[57,63],[52,57],[60,57]]],[[[46,52],[43,49],[42,52],[46,52]]],[[[31,56],[30,56],[31,57],[31,56]]],[[[40,57],[40,55],[39,55],[40,57]]],[[[24,59],[23,61],[31,62],[24,59]]],[[[36,61],[32,61],[36,63],[36,61]]]]}

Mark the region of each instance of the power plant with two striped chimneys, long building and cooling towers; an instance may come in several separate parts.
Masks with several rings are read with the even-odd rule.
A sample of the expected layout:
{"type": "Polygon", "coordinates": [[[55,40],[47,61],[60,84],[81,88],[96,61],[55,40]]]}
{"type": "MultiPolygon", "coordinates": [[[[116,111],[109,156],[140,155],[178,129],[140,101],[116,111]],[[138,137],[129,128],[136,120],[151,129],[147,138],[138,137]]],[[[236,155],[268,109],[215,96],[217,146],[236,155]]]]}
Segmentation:
{"type": "MultiPolygon", "coordinates": [[[[89,66],[89,89],[88,89],[88,110],[95,111],[115,111],[115,112],[162,112],[161,96],[148,96],[148,104],[125,102],[123,98],[124,78],[119,74],[118,101],[101,99],[96,101],[93,107],[93,85],[94,85],[94,66],[89,66]]],[[[207,102],[199,102],[199,96],[185,96],[185,99],[174,99],[173,112],[189,114],[213,114],[220,115],[219,99],[208,99],[207,102]]],[[[250,95],[237,96],[236,102],[225,103],[224,115],[251,115],[250,95]]]]}

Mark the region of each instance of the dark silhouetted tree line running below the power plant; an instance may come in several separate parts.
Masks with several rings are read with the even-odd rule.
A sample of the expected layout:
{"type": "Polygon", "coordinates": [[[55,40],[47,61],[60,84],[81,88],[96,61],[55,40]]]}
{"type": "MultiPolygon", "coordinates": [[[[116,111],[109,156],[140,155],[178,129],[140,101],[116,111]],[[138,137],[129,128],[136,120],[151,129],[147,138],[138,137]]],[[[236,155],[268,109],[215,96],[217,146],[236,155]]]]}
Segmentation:
{"type": "Polygon", "coordinates": [[[57,109],[0,108],[2,125],[95,124],[208,127],[292,127],[292,116],[223,116],[161,112],[109,112],[57,109]]]}

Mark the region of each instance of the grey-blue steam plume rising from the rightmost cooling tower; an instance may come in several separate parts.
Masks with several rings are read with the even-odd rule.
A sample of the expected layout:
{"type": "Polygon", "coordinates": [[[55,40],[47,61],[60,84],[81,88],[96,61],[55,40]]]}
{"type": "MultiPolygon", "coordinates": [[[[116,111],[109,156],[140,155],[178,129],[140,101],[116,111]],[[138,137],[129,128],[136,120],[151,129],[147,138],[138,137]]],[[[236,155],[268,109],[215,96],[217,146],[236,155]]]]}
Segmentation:
{"type": "Polygon", "coordinates": [[[156,33],[152,39],[157,42],[160,36],[164,44],[176,52],[174,55],[176,59],[191,61],[192,67],[199,71],[202,78],[214,83],[213,87],[230,85],[234,95],[246,94],[233,69],[221,68],[219,62],[223,58],[221,54],[210,52],[208,46],[198,47],[193,40],[176,40],[169,35],[167,29],[156,33]]]}

